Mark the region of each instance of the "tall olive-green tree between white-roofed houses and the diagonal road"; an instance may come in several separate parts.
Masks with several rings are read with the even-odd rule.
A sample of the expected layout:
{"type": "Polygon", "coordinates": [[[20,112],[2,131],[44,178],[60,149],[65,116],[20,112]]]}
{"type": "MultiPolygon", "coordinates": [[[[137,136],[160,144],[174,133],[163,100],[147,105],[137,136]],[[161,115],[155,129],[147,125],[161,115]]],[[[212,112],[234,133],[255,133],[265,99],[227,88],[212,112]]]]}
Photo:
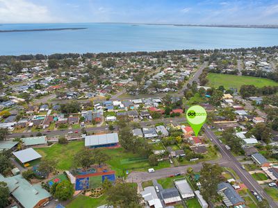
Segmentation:
{"type": "Polygon", "coordinates": [[[204,200],[213,200],[218,197],[218,184],[223,181],[222,168],[218,164],[203,163],[199,182],[201,183],[201,194],[204,200]]]}

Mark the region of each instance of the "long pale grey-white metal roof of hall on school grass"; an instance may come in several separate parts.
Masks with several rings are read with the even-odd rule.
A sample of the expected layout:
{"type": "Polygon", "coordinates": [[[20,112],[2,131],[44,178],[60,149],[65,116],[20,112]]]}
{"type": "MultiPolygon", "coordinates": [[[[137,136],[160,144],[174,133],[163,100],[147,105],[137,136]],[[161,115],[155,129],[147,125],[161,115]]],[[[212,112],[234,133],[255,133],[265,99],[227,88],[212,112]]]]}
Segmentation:
{"type": "Polygon", "coordinates": [[[106,135],[90,135],[85,137],[85,146],[98,146],[104,144],[115,144],[119,142],[117,133],[106,135]]]}

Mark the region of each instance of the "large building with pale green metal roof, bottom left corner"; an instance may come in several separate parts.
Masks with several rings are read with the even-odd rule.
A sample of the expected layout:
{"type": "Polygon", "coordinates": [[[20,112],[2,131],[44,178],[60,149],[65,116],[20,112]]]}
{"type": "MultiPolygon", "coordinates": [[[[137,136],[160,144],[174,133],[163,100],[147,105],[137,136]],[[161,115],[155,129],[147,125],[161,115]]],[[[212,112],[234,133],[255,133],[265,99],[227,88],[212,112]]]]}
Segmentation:
{"type": "Polygon", "coordinates": [[[22,175],[3,177],[0,174],[0,182],[7,184],[10,195],[15,198],[21,207],[44,207],[51,198],[51,194],[43,189],[40,184],[32,185],[22,175]]]}

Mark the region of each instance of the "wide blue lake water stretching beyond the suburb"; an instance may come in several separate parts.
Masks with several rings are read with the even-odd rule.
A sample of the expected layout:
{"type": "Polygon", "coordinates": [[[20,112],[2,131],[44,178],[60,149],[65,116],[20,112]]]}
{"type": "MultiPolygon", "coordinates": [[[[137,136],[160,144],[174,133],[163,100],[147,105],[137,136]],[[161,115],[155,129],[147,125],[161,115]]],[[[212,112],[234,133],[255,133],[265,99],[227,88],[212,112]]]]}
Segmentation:
{"type": "Polygon", "coordinates": [[[0,55],[226,49],[278,45],[278,29],[133,24],[2,24],[0,30],[85,27],[78,31],[0,33],[0,55]]]}

